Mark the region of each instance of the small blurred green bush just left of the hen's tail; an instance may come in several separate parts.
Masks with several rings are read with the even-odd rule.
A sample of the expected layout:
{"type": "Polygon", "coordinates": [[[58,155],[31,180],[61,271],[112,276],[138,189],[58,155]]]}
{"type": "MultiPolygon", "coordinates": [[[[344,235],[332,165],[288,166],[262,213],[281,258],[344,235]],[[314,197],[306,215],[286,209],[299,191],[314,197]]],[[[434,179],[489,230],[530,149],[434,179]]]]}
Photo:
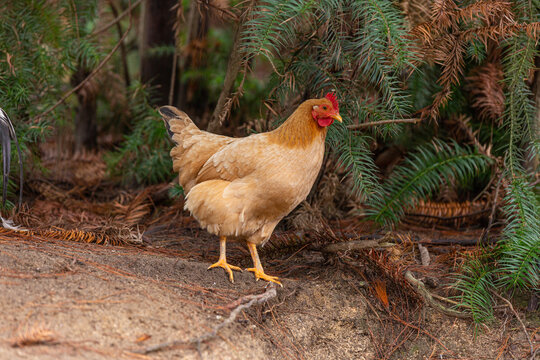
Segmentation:
{"type": "Polygon", "coordinates": [[[158,112],[149,104],[148,89],[140,83],[130,88],[133,129],[117,150],[106,157],[111,175],[128,184],[154,184],[171,180],[171,142],[158,112]]]}

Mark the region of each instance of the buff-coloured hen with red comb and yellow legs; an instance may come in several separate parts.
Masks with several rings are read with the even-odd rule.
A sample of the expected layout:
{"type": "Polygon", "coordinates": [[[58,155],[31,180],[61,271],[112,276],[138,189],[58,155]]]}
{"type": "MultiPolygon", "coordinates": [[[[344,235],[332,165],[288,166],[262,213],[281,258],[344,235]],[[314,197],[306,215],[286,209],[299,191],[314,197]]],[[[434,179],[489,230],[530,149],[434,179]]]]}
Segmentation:
{"type": "Polygon", "coordinates": [[[218,262],[234,282],[226,241],[245,241],[256,280],[280,284],[265,274],[257,245],[263,245],[279,221],[306,199],[321,168],[328,126],[341,122],[335,94],[303,102],[277,129],[244,138],[200,130],[182,111],[159,109],[176,146],[173,170],[186,193],[185,209],[201,227],[220,237],[218,262]]]}

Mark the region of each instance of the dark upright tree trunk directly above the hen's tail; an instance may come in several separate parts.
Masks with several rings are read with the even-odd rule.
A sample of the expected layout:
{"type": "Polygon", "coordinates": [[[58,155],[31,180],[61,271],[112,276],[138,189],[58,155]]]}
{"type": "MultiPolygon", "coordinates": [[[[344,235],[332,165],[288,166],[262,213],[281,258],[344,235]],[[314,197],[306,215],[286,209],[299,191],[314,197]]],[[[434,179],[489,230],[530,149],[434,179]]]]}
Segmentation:
{"type": "Polygon", "coordinates": [[[152,102],[166,103],[169,97],[173,54],[152,54],[152,49],[175,46],[174,21],[171,11],[176,0],[146,0],[142,21],[141,81],[155,86],[152,102]]]}

